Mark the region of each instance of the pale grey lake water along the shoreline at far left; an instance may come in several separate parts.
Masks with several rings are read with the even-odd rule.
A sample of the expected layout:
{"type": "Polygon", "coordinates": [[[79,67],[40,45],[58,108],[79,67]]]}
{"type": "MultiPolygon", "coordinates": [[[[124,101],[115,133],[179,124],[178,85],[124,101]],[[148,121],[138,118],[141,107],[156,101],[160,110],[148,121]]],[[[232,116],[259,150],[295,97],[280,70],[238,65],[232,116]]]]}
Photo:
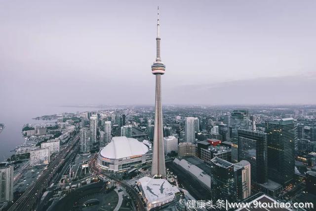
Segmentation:
{"type": "Polygon", "coordinates": [[[83,112],[83,111],[94,111],[101,110],[102,108],[92,108],[92,107],[40,107],[40,108],[30,108],[21,110],[12,109],[11,112],[5,110],[0,110],[0,123],[4,123],[5,127],[0,133],[0,161],[6,160],[15,152],[10,152],[10,150],[15,149],[15,147],[24,143],[24,138],[22,137],[22,127],[27,123],[42,123],[42,122],[55,122],[55,120],[41,121],[33,120],[32,118],[59,114],[63,112],[83,112]]]}

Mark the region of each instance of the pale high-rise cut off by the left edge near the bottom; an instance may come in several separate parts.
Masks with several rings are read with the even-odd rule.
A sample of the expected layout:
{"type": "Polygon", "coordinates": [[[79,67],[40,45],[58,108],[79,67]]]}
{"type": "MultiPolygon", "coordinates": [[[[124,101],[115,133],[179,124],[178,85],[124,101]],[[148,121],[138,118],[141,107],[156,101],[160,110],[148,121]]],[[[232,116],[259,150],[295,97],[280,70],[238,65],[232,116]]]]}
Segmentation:
{"type": "Polygon", "coordinates": [[[0,167],[0,203],[13,201],[13,169],[0,167]]]}

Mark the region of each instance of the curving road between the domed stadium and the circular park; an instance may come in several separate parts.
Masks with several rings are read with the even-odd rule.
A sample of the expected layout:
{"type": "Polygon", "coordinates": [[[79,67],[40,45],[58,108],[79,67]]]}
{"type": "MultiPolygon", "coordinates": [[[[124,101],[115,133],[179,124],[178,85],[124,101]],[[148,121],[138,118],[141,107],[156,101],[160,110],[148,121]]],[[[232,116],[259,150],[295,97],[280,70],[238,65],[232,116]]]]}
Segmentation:
{"type": "Polygon", "coordinates": [[[105,173],[101,173],[101,170],[97,167],[97,159],[98,159],[98,154],[95,154],[94,157],[90,160],[89,162],[89,168],[96,174],[96,175],[104,175],[114,181],[117,182],[118,185],[122,186],[123,188],[126,189],[126,191],[128,191],[128,193],[131,195],[131,197],[134,199],[134,203],[136,204],[136,210],[137,211],[146,211],[146,209],[144,208],[144,205],[142,203],[142,200],[140,199],[140,197],[138,196],[138,194],[136,193],[136,191],[134,190],[134,188],[132,188],[129,184],[127,184],[124,181],[118,180],[117,178],[110,176],[108,174],[105,173]]]}

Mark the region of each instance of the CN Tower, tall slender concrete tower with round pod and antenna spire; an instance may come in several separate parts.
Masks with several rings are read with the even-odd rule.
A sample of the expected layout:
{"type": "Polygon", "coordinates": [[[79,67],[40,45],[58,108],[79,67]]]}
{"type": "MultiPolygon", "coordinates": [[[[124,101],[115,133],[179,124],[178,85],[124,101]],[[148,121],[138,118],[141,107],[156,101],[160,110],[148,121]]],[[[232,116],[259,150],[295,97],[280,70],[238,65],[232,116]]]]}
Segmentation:
{"type": "Polygon", "coordinates": [[[160,58],[160,25],[159,7],[157,19],[157,56],[152,65],[152,73],[156,75],[156,99],[155,99],[155,126],[154,126],[154,153],[151,175],[154,178],[165,178],[166,167],[164,163],[163,131],[162,131],[162,106],[161,106],[161,75],[164,74],[165,66],[160,58]]]}

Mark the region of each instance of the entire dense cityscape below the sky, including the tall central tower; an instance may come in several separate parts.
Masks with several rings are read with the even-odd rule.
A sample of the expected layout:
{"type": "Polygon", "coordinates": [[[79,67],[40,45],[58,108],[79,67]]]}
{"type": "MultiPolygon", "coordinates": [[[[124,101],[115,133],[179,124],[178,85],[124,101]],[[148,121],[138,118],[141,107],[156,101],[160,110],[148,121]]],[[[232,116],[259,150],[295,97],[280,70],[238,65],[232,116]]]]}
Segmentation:
{"type": "Polygon", "coordinates": [[[316,106],[166,105],[159,7],[156,27],[155,106],[26,122],[0,211],[315,210],[316,106]]]}

